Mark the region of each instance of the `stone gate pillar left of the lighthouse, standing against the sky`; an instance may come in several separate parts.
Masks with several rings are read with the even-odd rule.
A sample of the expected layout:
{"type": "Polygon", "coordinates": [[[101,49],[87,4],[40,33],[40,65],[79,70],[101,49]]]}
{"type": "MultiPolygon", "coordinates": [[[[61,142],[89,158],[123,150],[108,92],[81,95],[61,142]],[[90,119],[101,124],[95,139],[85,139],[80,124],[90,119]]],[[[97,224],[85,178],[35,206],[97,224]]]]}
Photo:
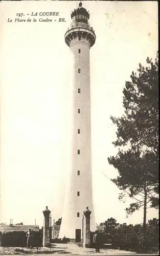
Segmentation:
{"type": "Polygon", "coordinates": [[[45,210],[43,210],[43,247],[50,246],[50,213],[51,211],[46,206],[45,210]]]}

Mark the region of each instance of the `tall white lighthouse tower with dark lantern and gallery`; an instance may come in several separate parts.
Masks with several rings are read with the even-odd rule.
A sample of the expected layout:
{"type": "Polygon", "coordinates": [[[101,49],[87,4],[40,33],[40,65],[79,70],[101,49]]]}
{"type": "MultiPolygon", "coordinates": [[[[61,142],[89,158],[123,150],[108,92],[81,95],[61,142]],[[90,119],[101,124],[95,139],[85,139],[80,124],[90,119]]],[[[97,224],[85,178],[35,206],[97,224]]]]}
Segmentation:
{"type": "Polygon", "coordinates": [[[90,113],[90,48],[96,35],[88,23],[89,13],[79,3],[71,13],[72,23],[64,35],[72,52],[72,144],[71,169],[68,171],[66,193],[59,238],[82,242],[83,211],[89,207],[90,230],[95,231],[92,189],[92,143],[90,113]]]}

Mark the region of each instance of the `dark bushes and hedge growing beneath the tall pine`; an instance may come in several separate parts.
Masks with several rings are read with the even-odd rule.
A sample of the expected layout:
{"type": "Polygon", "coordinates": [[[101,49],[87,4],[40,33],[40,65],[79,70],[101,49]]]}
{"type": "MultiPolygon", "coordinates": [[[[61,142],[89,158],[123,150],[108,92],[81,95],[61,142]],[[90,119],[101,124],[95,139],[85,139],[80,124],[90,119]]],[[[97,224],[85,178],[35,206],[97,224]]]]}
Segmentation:
{"type": "Polygon", "coordinates": [[[153,218],[146,224],[144,236],[141,224],[120,224],[110,218],[101,223],[105,225],[105,232],[110,231],[112,249],[134,251],[137,253],[157,253],[159,249],[159,220],[153,218]],[[147,239],[145,239],[145,237],[147,239]]]}

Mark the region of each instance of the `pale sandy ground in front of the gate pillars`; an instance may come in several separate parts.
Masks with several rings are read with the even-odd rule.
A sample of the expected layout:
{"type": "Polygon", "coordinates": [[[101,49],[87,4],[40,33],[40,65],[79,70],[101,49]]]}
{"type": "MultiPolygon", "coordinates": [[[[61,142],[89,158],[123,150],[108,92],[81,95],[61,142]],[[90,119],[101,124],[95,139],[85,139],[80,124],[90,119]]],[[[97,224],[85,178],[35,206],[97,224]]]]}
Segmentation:
{"type": "Polygon", "coordinates": [[[121,251],[121,250],[112,250],[112,249],[101,249],[99,253],[95,253],[95,249],[93,248],[82,248],[78,247],[76,244],[54,244],[52,248],[42,247],[33,249],[27,249],[25,247],[0,247],[0,255],[3,254],[23,254],[23,255],[84,255],[84,254],[92,254],[92,255],[113,255],[113,254],[130,254],[133,252],[129,251],[121,251]]]}

